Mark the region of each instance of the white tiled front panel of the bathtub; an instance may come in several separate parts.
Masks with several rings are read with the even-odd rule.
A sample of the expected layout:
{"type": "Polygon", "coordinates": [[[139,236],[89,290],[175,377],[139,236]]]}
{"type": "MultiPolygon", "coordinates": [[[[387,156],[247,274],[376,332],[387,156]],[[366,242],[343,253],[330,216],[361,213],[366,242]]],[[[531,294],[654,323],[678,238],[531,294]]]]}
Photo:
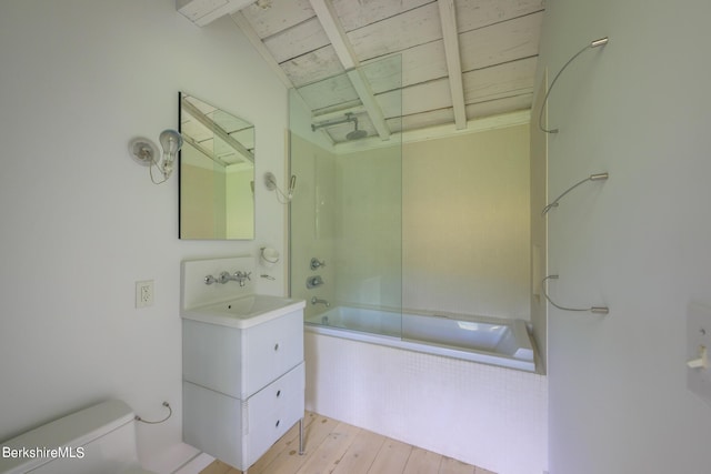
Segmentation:
{"type": "Polygon", "coordinates": [[[307,410],[502,474],[548,468],[545,376],[304,337],[307,410]]]}

